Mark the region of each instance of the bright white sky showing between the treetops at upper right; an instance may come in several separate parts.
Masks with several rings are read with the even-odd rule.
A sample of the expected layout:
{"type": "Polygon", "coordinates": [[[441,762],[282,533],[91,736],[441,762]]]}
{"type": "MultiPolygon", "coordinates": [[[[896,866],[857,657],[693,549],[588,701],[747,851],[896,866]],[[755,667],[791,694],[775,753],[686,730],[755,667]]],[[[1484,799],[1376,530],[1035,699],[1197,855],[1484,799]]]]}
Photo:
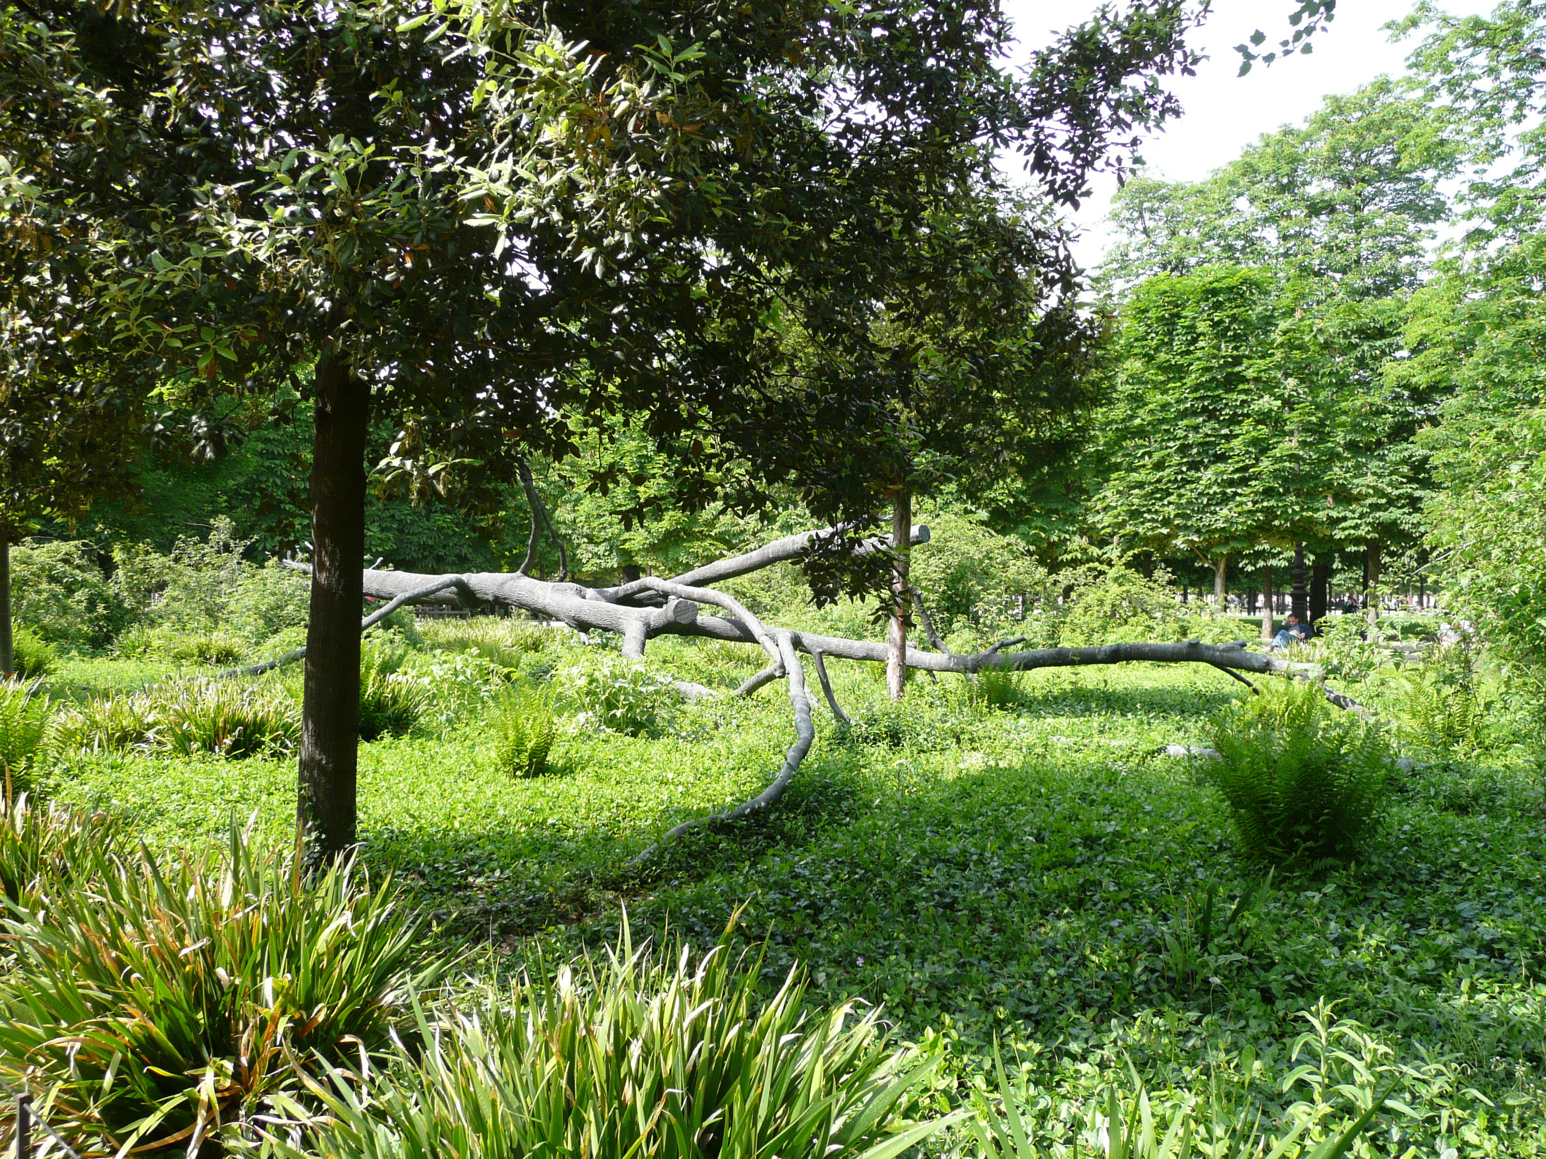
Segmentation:
{"type": "MultiPolygon", "coordinates": [[[[1441,0],[1441,6],[1470,15],[1492,11],[1493,2],[1441,0]]],[[[1096,3],[1003,0],[1003,8],[1025,46],[1023,59],[1031,46],[1045,45],[1057,29],[1088,15],[1096,3]]],[[[1320,107],[1322,97],[1351,93],[1382,73],[1404,71],[1415,40],[1393,45],[1382,25],[1407,15],[1413,2],[1340,0],[1336,20],[1314,36],[1309,56],[1271,66],[1257,63],[1249,74],[1237,76],[1240,56],[1234,46],[1257,28],[1268,37],[1263,48],[1274,46],[1288,36],[1292,8],[1291,0],[1215,0],[1214,15],[1197,34],[1197,45],[1209,59],[1198,65],[1195,77],[1177,79],[1172,88],[1186,113],[1142,148],[1150,172],[1172,181],[1197,181],[1263,133],[1303,121],[1320,107]]],[[[1084,238],[1076,252],[1087,266],[1096,264],[1105,250],[1104,218],[1113,189],[1115,182],[1099,182],[1078,213],[1084,238]]]]}

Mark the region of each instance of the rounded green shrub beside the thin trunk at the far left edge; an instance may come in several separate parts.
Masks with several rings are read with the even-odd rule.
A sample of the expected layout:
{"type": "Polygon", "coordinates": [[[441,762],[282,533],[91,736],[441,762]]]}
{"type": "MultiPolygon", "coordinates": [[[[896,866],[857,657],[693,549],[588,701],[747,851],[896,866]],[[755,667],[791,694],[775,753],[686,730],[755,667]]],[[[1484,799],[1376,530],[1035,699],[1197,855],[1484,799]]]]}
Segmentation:
{"type": "Polygon", "coordinates": [[[76,539],[12,547],[11,600],[17,623],[66,647],[104,647],[133,615],[96,547],[76,539]]]}

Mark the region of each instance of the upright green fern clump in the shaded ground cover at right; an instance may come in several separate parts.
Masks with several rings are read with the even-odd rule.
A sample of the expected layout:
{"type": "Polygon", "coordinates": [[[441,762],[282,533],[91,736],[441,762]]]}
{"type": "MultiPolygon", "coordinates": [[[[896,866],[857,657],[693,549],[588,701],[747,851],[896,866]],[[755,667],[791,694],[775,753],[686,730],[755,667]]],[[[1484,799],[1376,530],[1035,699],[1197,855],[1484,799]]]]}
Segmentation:
{"type": "Polygon", "coordinates": [[[1379,731],[1334,709],[1313,681],[1258,683],[1212,720],[1203,776],[1224,799],[1248,858],[1311,870],[1354,858],[1385,804],[1379,731]]]}

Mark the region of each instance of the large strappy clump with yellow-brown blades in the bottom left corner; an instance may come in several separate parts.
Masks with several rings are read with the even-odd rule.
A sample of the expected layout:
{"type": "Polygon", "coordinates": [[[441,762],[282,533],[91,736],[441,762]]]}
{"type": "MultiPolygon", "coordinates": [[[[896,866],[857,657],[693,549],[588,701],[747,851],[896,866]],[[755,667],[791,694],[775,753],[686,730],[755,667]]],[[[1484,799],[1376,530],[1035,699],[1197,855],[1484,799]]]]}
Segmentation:
{"type": "Polygon", "coordinates": [[[215,862],[73,848],[46,912],[12,915],[0,1072],[87,1154],[237,1134],[308,1068],[385,1046],[416,923],[352,865],[315,878],[233,836],[215,862]]]}

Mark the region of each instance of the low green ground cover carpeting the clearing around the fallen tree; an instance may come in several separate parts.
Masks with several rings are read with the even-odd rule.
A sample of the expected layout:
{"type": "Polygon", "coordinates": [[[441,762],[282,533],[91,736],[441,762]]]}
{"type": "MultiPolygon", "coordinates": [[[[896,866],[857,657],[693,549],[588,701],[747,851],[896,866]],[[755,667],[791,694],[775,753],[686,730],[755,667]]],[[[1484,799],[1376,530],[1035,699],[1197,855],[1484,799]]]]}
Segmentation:
{"type": "MultiPolygon", "coordinates": [[[[686,641],[651,663],[714,686],[759,666],[686,641]]],[[[1326,1000],[1360,1051],[1425,1076],[1401,1096],[1422,1117],[1387,1114],[1373,1154],[1546,1154],[1546,810],[1521,749],[1401,774],[1362,862],[1263,887],[1221,799],[1161,756],[1204,740],[1240,689],[1223,674],[1036,672],[993,711],[918,678],[897,712],[867,669],[832,671],[864,726],[819,708],[779,810],[643,872],[628,862],[665,828],[765,783],[792,736],[779,686],[683,705],[660,739],[561,728],[553,771],[521,780],[492,702],[447,697],[438,725],[362,746],[366,858],[487,944],[493,974],[614,940],[625,904],[635,935],[699,944],[745,906],[770,974],[798,960],[816,1000],[883,1003],[904,1037],[945,1042],[960,1083],[999,1040],[1033,1099],[1087,1099],[1132,1059],[1156,1099],[1282,1113],[1302,1012],[1326,1000]]],[[[161,847],[218,842],[232,813],[292,838],[288,760],[80,757],[46,790],[161,847]]]]}

